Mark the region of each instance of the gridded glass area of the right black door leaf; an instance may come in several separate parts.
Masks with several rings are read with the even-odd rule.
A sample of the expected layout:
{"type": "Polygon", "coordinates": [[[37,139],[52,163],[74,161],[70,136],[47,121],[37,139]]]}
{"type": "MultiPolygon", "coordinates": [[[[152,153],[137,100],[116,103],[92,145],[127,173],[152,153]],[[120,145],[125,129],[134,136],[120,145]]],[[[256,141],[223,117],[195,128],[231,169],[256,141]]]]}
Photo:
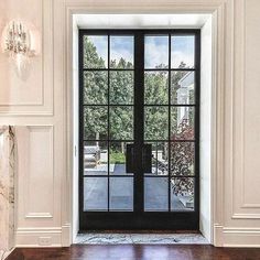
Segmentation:
{"type": "Polygon", "coordinates": [[[144,35],[144,144],[152,141],[144,212],[194,210],[194,39],[144,35]]]}

